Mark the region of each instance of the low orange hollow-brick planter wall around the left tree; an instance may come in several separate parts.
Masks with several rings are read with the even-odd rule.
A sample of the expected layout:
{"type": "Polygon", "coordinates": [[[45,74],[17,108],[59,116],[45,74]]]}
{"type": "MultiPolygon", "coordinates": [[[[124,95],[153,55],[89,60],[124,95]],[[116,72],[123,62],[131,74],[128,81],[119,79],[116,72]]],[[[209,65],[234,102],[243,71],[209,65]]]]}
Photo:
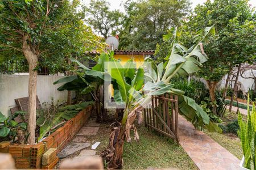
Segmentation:
{"type": "Polygon", "coordinates": [[[80,128],[88,121],[92,106],[85,108],[75,117],[65,122],[65,125],[51,135],[46,137],[42,142],[36,145],[10,145],[0,148],[0,152],[9,153],[15,160],[16,168],[45,168],[52,169],[57,163],[57,158],[54,158],[49,165],[42,167],[43,154],[49,148],[56,148],[56,154],[59,153],[65,145],[75,136],[80,128]]]}

